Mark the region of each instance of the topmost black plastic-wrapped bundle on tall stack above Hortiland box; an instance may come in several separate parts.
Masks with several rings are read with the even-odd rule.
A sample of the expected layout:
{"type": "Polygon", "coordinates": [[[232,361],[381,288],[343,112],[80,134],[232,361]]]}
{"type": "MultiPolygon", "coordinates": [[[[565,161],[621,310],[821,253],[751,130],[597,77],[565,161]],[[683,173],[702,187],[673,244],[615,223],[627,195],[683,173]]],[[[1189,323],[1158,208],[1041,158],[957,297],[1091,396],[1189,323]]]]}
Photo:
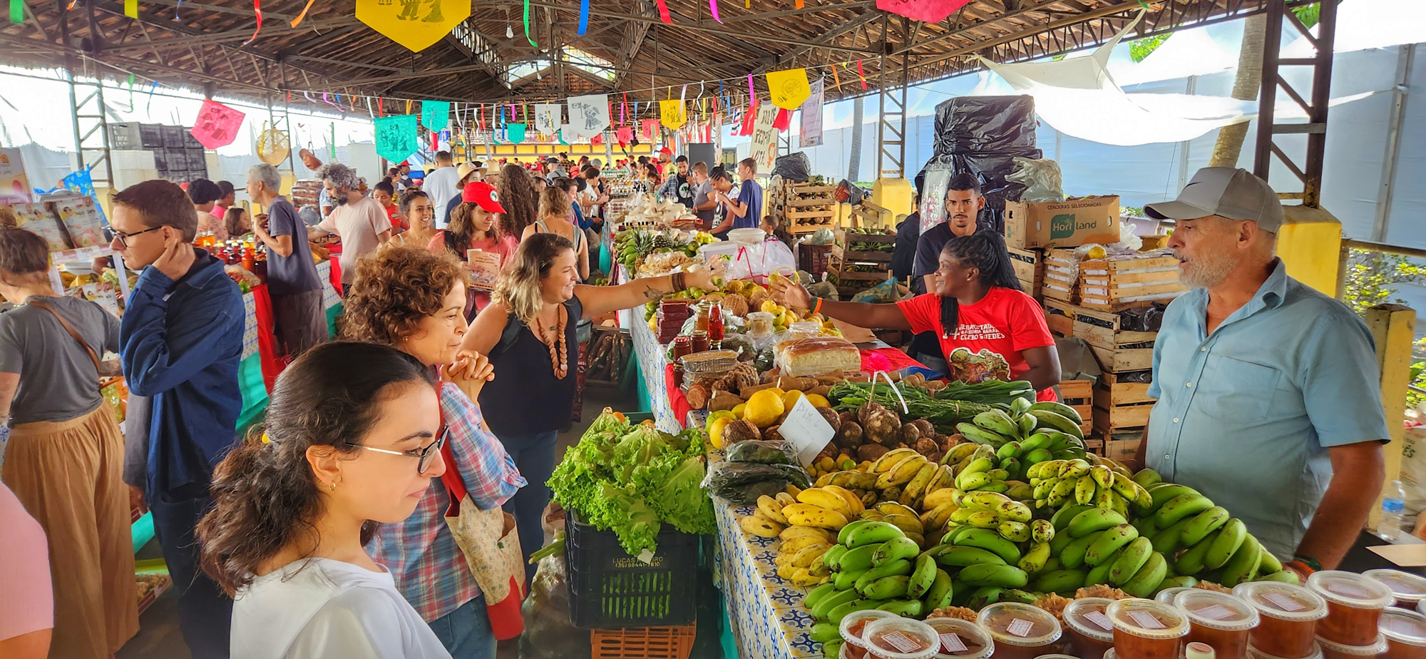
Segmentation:
{"type": "Polygon", "coordinates": [[[935,106],[935,154],[1035,147],[1031,96],[957,96],[935,106]]]}

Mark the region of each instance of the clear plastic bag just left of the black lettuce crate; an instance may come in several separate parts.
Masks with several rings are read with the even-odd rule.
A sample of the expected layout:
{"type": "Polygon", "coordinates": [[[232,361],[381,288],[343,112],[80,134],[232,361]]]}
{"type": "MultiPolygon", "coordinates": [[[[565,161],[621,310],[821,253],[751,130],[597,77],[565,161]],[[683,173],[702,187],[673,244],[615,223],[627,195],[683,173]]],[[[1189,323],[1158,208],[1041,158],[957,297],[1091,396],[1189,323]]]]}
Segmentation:
{"type": "Polygon", "coordinates": [[[563,659],[589,656],[589,632],[569,623],[569,586],[565,583],[565,555],[545,556],[535,571],[530,593],[520,605],[525,633],[520,659],[563,659]]]}

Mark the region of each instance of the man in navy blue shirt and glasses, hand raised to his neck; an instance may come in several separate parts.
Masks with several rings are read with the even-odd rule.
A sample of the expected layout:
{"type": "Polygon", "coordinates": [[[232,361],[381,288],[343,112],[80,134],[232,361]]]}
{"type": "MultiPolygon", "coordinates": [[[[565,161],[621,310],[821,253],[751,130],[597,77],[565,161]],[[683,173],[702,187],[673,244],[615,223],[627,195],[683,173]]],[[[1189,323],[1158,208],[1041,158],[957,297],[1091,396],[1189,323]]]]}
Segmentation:
{"type": "Polygon", "coordinates": [[[242,408],[244,311],[222,261],[191,245],[197,223],[188,195],[168,181],[114,195],[111,247],[143,270],[118,342],[128,389],[151,404],[144,498],[180,593],[188,649],[227,658],[232,601],[198,568],[194,528],[212,505],[212,468],[232,446],[242,408]]]}

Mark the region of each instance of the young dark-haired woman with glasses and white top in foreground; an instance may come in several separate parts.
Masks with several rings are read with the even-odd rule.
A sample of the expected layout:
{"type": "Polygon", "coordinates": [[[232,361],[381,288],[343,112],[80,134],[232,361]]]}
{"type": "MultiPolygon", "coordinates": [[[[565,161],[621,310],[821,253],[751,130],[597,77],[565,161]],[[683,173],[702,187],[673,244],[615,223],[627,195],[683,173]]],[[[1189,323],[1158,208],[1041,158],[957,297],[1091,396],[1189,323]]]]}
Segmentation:
{"type": "MultiPolygon", "coordinates": [[[[446,372],[486,375],[473,369],[446,372]]],[[[451,656],[362,549],[446,469],[434,384],[406,352],[361,342],[312,348],[277,379],[264,432],[218,465],[198,525],[202,569],[235,596],[232,659],[451,656]]]]}

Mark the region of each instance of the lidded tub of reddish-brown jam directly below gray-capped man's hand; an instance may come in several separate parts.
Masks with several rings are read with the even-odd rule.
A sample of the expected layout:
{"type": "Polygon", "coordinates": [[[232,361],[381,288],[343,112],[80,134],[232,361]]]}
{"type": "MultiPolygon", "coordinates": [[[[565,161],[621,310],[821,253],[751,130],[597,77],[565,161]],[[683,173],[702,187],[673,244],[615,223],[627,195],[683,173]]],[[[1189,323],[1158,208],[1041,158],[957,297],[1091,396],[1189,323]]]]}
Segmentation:
{"type": "Polygon", "coordinates": [[[1278,659],[1322,653],[1313,636],[1328,603],[1318,593],[1295,583],[1258,581],[1238,585],[1233,595],[1258,609],[1261,620],[1248,633],[1248,645],[1258,653],[1278,659]]]}

